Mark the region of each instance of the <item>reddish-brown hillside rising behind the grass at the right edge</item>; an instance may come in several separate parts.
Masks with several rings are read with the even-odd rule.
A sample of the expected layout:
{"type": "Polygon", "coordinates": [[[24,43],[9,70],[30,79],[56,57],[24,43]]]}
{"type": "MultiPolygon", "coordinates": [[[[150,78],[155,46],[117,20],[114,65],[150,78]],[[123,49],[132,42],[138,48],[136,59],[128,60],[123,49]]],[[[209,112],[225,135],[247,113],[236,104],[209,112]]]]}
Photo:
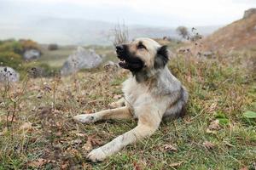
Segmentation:
{"type": "Polygon", "coordinates": [[[256,44],[256,8],[248,9],[241,20],[224,26],[201,43],[204,50],[251,48],[256,44]]]}

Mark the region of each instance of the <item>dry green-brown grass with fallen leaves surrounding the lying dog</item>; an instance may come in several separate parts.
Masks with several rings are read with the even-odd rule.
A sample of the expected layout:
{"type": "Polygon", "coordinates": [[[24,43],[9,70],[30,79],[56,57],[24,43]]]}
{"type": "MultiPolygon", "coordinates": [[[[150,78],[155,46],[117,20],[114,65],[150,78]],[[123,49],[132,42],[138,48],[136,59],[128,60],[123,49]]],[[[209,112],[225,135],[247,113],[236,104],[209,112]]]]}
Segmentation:
{"type": "Polygon", "coordinates": [[[0,169],[253,169],[256,123],[242,116],[256,111],[255,55],[250,53],[216,59],[177,54],[169,67],[189,90],[187,116],[162,122],[152,137],[97,164],[85,160],[92,149],[88,140],[96,141],[91,143],[96,148],[137,122],[84,125],[71,117],[108,109],[121,94],[127,71],[100,68],[75,77],[30,79],[23,94],[21,82],[11,86],[9,95],[3,96],[2,87],[0,169]],[[17,96],[15,119],[7,130],[6,115],[17,96]],[[215,120],[222,121],[220,128],[207,131],[215,120]],[[25,122],[32,124],[24,127],[25,122]]]}

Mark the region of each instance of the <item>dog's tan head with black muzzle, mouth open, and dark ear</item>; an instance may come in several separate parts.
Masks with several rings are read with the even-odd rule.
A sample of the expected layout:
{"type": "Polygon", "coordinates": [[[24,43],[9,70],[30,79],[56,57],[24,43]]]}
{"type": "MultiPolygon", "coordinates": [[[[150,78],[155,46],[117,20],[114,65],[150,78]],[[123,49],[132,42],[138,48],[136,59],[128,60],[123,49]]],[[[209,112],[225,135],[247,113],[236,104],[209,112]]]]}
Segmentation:
{"type": "Polygon", "coordinates": [[[120,59],[119,66],[131,72],[164,68],[168,62],[166,46],[150,38],[136,40],[116,46],[116,53],[120,59]]]}

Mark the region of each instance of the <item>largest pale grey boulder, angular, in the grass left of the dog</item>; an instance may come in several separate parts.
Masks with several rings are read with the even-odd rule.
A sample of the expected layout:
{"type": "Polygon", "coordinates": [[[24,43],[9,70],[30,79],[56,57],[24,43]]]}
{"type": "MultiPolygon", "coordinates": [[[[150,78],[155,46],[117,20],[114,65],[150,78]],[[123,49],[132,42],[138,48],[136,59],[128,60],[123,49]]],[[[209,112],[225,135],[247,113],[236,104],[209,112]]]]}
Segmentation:
{"type": "Polygon", "coordinates": [[[102,63],[102,57],[93,49],[78,47],[77,50],[68,56],[61,68],[61,75],[68,75],[81,69],[91,69],[102,63]]]}

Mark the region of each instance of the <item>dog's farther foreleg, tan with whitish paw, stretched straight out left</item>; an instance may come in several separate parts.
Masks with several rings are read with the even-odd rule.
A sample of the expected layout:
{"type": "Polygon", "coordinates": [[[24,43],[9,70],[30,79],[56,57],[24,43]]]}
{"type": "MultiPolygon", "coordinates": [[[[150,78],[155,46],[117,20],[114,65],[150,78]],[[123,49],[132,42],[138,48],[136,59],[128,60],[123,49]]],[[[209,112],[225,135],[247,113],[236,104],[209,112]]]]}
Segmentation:
{"type": "Polygon", "coordinates": [[[127,106],[124,106],[117,109],[99,111],[93,114],[73,116],[73,119],[78,122],[90,123],[108,119],[129,119],[131,117],[130,109],[127,106]]]}

